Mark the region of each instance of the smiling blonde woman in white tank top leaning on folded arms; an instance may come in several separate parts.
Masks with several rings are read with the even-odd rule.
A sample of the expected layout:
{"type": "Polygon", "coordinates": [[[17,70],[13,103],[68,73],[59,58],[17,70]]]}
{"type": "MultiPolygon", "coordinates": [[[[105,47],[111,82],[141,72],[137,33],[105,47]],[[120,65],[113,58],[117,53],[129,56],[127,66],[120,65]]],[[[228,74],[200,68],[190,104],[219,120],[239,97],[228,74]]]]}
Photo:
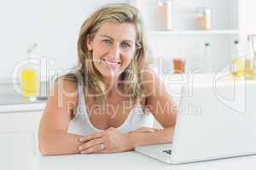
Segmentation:
{"type": "Polygon", "coordinates": [[[55,82],[39,128],[43,156],[113,153],[172,142],[176,105],[145,65],[137,9],[110,4],[84,21],[78,68],[55,82]],[[154,118],[164,129],[152,128],[154,118]]]}

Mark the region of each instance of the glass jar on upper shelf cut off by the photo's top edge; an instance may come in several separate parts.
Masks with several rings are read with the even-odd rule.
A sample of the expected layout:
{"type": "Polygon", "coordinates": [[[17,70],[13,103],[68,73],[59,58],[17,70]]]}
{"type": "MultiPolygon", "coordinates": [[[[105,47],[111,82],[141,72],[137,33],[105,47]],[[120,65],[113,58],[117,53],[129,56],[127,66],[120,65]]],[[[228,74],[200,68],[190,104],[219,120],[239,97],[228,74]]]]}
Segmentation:
{"type": "Polygon", "coordinates": [[[160,23],[164,30],[172,30],[172,13],[173,2],[172,0],[158,0],[158,10],[160,14],[160,23]]]}

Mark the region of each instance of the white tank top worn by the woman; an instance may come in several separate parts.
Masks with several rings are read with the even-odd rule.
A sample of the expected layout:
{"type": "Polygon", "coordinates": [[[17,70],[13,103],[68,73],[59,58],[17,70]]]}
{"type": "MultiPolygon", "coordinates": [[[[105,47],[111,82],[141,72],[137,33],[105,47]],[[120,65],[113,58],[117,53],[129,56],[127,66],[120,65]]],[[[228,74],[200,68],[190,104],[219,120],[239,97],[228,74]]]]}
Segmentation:
{"type": "MultiPolygon", "coordinates": [[[[88,113],[86,111],[84,102],[84,92],[82,85],[78,83],[79,90],[79,105],[76,115],[68,124],[68,133],[75,133],[79,135],[88,135],[90,133],[96,133],[102,131],[93,126],[90,122],[88,113]]],[[[137,105],[136,108],[131,110],[127,116],[125,122],[117,127],[120,132],[128,133],[135,131],[140,127],[153,127],[154,116],[152,114],[145,114],[141,105],[137,105]]]]}

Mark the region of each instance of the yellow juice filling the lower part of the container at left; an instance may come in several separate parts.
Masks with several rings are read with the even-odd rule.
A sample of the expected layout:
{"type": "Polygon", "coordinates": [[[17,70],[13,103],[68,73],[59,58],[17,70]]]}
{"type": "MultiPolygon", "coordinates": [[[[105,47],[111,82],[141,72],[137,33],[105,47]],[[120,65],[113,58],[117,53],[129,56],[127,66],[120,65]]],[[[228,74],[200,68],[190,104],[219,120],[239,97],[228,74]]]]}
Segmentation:
{"type": "Polygon", "coordinates": [[[35,98],[38,95],[39,88],[37,71],[23,69],[20,74],[20,84],[24,96],[35,98]]]}

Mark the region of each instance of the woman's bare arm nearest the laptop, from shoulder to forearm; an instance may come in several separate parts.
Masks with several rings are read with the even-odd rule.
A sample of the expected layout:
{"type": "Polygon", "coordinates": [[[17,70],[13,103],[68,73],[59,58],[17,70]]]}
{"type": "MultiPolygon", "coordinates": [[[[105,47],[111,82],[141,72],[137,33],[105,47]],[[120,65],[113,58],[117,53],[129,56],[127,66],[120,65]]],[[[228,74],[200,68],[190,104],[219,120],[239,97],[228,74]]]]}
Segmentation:
{"type": "Polygon", "coordinates": [[[143,72],[143,88],[147,99],[147,108],[160,122],[164,129],[154,133],[131,132],[131,149],[137,145],[164,144],[172,142],[177,117],[177,104],[168,94],[163,82],[153,71],[147,69],[143,72]]]}

